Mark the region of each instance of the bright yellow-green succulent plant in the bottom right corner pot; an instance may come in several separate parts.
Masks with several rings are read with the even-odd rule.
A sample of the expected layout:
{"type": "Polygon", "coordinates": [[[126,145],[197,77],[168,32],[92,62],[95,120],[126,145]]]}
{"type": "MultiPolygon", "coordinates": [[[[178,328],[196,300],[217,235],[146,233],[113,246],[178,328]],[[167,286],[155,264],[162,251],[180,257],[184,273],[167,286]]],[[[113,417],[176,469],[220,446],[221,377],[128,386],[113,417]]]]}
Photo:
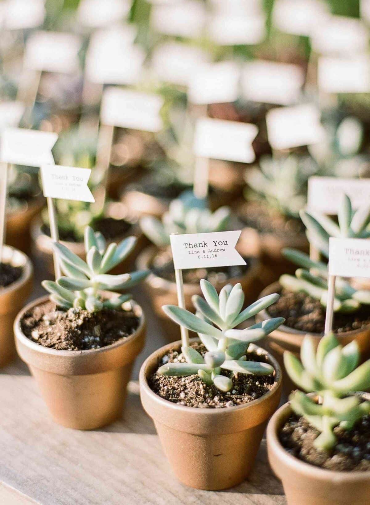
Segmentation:
{"type": "Polygon", "coordinates": [[[301,346],[301,362],[291,352],[284,352],[284,365],[292,381],[304,391],[319,395],[317,403],[302,391],[289,396],[293,411],[320,431],[314,441],[317,448],[333,448],[336,426],[351,430],[370,413],[370,402],[353,394],[370,387],[370,360],[356,368],[359,357],[355,341],[343,347],[331,333],[320,340],[316,351],[314,339],[307,335],[301,346]]]}

